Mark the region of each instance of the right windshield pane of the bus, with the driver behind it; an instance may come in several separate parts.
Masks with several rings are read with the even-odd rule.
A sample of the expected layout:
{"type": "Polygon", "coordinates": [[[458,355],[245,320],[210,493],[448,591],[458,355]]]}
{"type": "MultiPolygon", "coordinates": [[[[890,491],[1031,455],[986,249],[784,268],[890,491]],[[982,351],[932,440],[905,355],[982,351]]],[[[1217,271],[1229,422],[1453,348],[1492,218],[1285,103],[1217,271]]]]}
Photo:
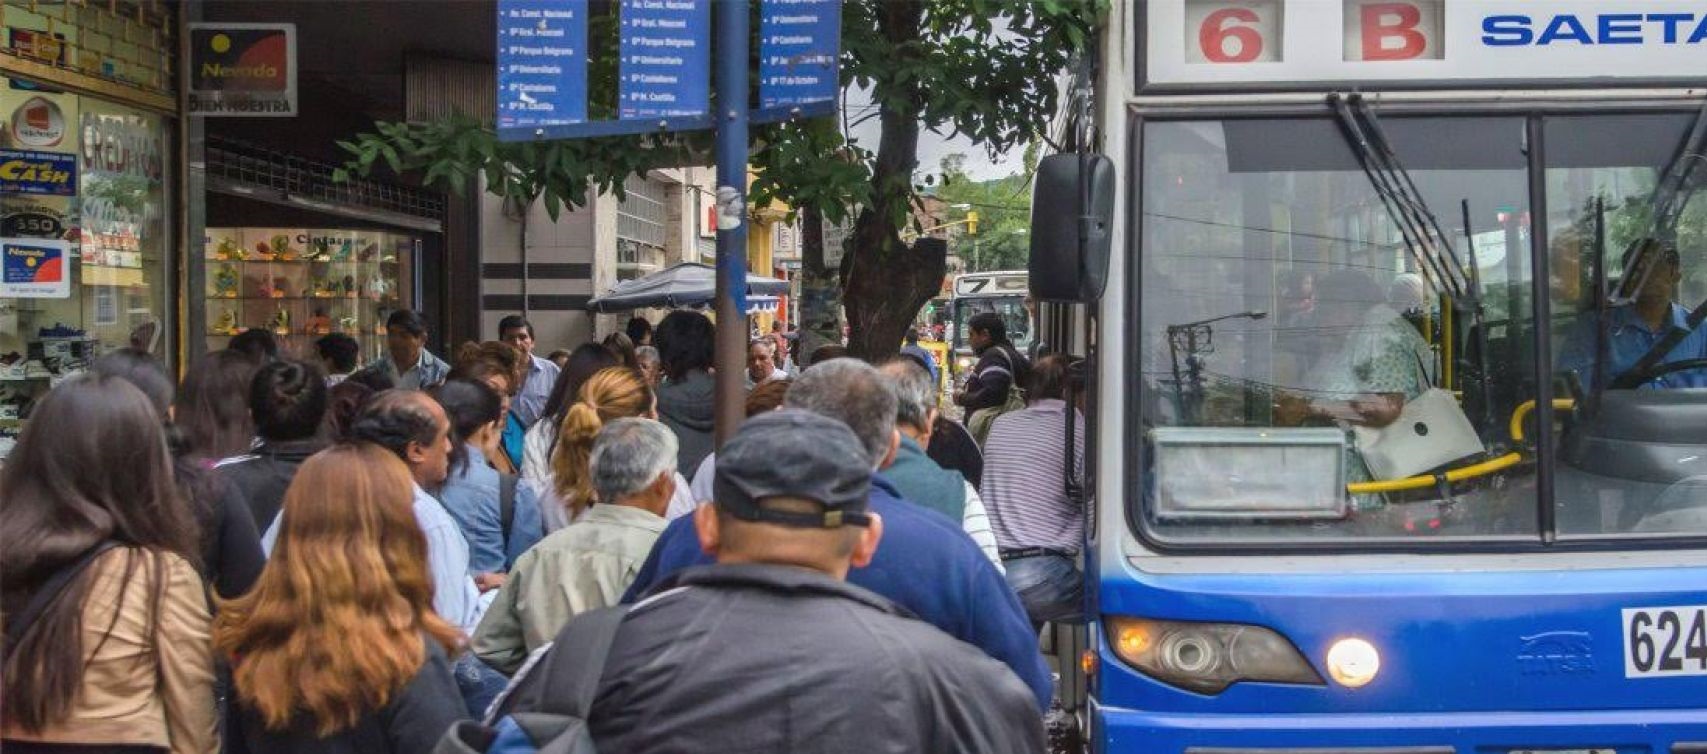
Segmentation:
{"type": "Polygon", "coordinates": [[[1707,531],[1707,331],[1692,319],[1707,302],[1704,121],[1545,123],[1553,367],[1569,401],[1560,536],[1707,531]]]}

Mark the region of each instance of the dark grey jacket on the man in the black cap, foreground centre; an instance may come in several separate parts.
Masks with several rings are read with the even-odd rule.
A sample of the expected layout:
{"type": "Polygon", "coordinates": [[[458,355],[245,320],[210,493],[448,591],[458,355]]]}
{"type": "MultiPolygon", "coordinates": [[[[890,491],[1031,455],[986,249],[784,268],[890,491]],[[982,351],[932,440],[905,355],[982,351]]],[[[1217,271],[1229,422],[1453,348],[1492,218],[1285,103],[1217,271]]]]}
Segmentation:
{"type": "Polygon", "coordinates": [[[623,621],[591,722],[599,751],[1043,751],[1005,665],[860,587],[766,565],[659,583],[623,621]]]}

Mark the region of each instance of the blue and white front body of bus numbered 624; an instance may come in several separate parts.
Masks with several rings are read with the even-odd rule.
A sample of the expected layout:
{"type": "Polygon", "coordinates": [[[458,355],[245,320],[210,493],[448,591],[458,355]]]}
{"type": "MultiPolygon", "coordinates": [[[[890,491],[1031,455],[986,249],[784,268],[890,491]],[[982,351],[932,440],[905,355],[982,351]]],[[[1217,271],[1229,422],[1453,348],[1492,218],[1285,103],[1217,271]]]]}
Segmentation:
{"type": "MultiPolygon", "coordinates": [[[[1094,500],[1087,508],[1084,554],[1087,650],[1082,660],[1087,699],[1081,711],[1091,751],[1707,752],[1707,628],[1702,623],[1707,621],[1707,546],[1693,536],[1707,534],[1707,529],[1666,532],[1669,536],[1659,539],[1630,532],[1572,536],[1558,532],[1557,515],[1545,515],[1550,524],[1538,527],[1553,529],[1536,531],[1533,541],[1506,537],[1509,532],[1504,532],[1461,541],[1345,541],[1343,548],[1337,548],[1331,541],[1299,546],[1156,536],[1144,520],[1156,481],[1149,476],[1149,440],[1140,423],[1145,391],[1135,384],[1140,372],[1166,368],[1140,363],[1147,358],[1140,338],[1149,333],[1142,322],[1144,283],[1139,281],[1139,263],[1147,254],[1140,242],[1140,215],[1147,205],[1139,196],[1139,186],[1147,179],[1142,154],[1145,123],[1330,118],[1321,106],[1330,90],[1360,89],[1366,97],[1379,99],[1381,114],[1389,123],[1405,114],[1449,118],[1459,113],[1529,119],[1531,130],[1523,138],[1528,148],[1533,143],[1529,136],[1547,128],[1543,119],[1649,111],[1687,119],[1707,101],[1707,44],[1685,53],[1673,49],[1685,46],[1693,24],[1673,19],[1671,34],[1678,43],[1664,49],[1664,55],[1688,55],[1683,60],[1698,63],[1697,75],[1688,80],[1632,75],[1628,84],[1588,77],[1555,85],[1516,77],[1497,85],[1475,82],[1459,87],[1449,78],[1340,85],[1265,82],[1261,78],[1270,73],[1260,73],[1258,80],[1231,77],[1232,84],[1226,87],[1145,89],[1139,84],[1147,80],[1140,61],[1154,53],[1154,44],[1139,36],[1161,19],[1174,24],[1164,34],[1185,36],[1178,26],[1181,5],[1188,3],[1115,2],[1101,38],[1094,106],[1098,150],[1113,160],[1118,194],[1111,229],[1115,251],[1106,293],[1094,304],[1098,336],[1091,345],[1098,389],[1091,409],[1094,500]],[[1159,5],[1166,7],[1164,12],[1157,12],[1159,5]],[[1311,107],[1320,113],[1309,114],[1311,107]],[[1193,631],[1229,631],[1222,626],[1267,629],[1296,650],[1296,658],[1308,665],[1314,679],[1234,679],[1222,689],[1193,691],[1140,670],[1130,652],[1116,647],[1128,619],[1159,626],[1144,636],[1128,631],[1130,652],[1161,652],[1151,643],[1169,638],[1185,641],[1198,636],[1193,631]],[[1335,655],[1331,660],[1330,653],[1335,655]]],[[[1285,7],[1304,15],[1304,5],[1338,7],[1340,0],[1212,5],[1285,7]]],[[[1448,17],[1471,14],[1477,5],[1448,0],[1444,12],[1448,17]]],[[[1487,0],[1480,5],[1489,15],[1512,15],[1523,9],[1511,9],[1523,5],[1536,19],[1687,12],[1707,24],[1707,5],[1698,2],[1487,0]],[[1635,5],[1642,9],[1630,10],[1635,5]]],[[[1195,10],[1193,19],[1203,12],[1195,10]]],[[[1663,22],[1637,22],[1651,43],[1666,34],[1663,22]]],[[[1526,24],[1533,44],[1555,22],[1526,24]]],[[[1594,20],[1586,24],[1591,34],[1598,32],[1594,20]]],[[[1622,20],[1615,19],[1615,31],[1622,29],[1618,24],[1622,20]]],[[[1502,17],[1494,20],[1489,36],[1500,44],[1514,44],[1521,36],[1516,32],[1519,26],[1502,17]]],[[[1564,32],[1570,32],[1569,22],[1562,26],[1564,32]]],[[[1289,34],[1297,31],[1294,26],[1285,29],[1289,34]]],[[[1526,172],[1545,176],[1550,169],[1548,164],[1526,172]]],[[[1221,179],[1226,183],[1226,176],[1221,179]]],[[[1185,183],[1186,177],[1181,177],[1185,183]]],[[[1531,183],[1524,181],[1524,186],[1531,183]]],[[[1448,206],[1442,215],[1456,215],[1456,206],[1448,206]]],[[[1533,235],[1531,230],[1519,229],[1511,237],[1533,235]]],[[[1528,254],[1524,264],[1533,271],[1535,256],[1545,256],[1547,244],[1524,239],[1524,246],[1511,249],[1512,254],[1528,254]]],[[[1557,293],[1547,292],[1547,283],[1523,285],[1543,292],[1545,299],[1557,299],[1557,293]]],[[[1239,304],[1229,302],[1227,309],[1239,310],[1239,304]]],[[[1523,329],[1521,324],[1512,328],[1523,329]]],[[[1531,343],[1529,348],[1540,346],[1531,343]]],[[[1557,355],[1558,345],[1550,343],[1548,350],[1557,355]]],[[[1531,382],[1547,380],[1536,377],[1531,382]]],[[[1562,420],[1547,408],[1558,394],[1550,387],[1531,386],[1531,391],[1518,397],[1541,399],[1538,415],[1562,420]]],[[[1547,437],[1552,430],[1543,433],[1547,437]]],[[[1552,495],[1555,505],[1567,505],[1576,483],[1569,474],[1558,474],[1558,454],[1548,455],[1545,464],[1555,474],[1545,483],[1533,483],[1540,488],[1535,495],[1552,495]]],[[[1697,462],[1693,455],[1678,461],[1697,462]]],[[[1524,464],[1538,462],[1524,459],[1524,464]]],[[[1523,484],[1519,479],[1518,486],[1523,484]]],[[[1521,498],[1509,491],[1502,495],[1521,498]]],[[[1707,505],[1707,493],[1700,503],[1707,505]]],[[[1536,508],[1541,508],[1540,502],[1536,508]]],[[[1186,652],[1186,658],[1200,660],[1203,647],[1217,650],[1210,640],[1186,652]]],[[[1226,652],[1224,647],[1221,650],[1226,652]]]]}

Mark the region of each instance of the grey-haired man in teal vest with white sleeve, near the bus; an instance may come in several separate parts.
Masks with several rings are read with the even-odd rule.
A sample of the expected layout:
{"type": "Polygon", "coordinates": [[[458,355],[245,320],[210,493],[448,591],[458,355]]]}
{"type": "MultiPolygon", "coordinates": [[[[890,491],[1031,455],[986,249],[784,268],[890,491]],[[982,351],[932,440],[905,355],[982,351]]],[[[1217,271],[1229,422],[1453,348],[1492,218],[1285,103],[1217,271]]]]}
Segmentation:
{"type": "Polygon", "coordinates": [[[894,428],[901,445],[883,476],[901,491],[901,496],[923,505],[949,520],[961,522],[966,536],[978,542],[990,563],[1002,570],[1002,554],[995,548],[990,515],[983,510],[978,490],[958,471],[949,471],[925,455],[930,445],[930,428],[937,420],[937,386],[918,362],[900,357],[877,368],[894,389],[894,428]]]}

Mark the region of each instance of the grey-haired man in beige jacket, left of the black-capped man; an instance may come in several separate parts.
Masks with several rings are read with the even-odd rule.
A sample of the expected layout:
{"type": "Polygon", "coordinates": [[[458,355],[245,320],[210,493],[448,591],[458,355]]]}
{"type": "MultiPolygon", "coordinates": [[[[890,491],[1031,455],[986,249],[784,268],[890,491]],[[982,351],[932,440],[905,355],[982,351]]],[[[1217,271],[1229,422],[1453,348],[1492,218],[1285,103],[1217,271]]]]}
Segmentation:
{"type": "Polygon", "coordinates": [[[664,531],[676,450],[676,435],[652,420],[599,430],[587,457],[597,503],[516,560],[475,631],[475,655],[514,674],[570,618],[616,604],[664,531]]]}

